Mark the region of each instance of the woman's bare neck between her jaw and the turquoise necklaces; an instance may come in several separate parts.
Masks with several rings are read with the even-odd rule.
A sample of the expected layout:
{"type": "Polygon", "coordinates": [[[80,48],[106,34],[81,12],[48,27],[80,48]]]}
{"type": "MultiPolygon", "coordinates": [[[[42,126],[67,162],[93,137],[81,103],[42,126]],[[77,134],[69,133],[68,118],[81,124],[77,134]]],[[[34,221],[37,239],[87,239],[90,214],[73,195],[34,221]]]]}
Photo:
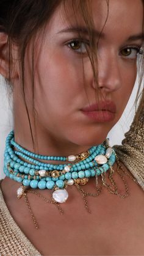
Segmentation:
{"type": "Polygon", "coordinates": [[[41,130],[40,127],[37,127],[37,135],[34,136],[33,145],[30,131],[18,129],[15,126],[15,142],[31,152],[46,156],[77,155],[81,152],[86,152],[88,148],[92,147],[91,145],[76,145],[59,138],[59,136],[54,137],[48,131],[41,130]]]}

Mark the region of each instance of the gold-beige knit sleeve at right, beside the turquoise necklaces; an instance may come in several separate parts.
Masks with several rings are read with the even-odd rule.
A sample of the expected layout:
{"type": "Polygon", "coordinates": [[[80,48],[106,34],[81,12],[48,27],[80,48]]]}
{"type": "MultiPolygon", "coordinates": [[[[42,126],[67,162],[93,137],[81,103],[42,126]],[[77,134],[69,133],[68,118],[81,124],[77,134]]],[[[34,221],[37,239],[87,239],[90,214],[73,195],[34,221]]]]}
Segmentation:
{"type": "MultiPolygon", "coordinates": [[[[143,92],[144,94],[144,92],[143,92]]],[[[134,120],[122,145],[115,145],[115,152],[120,161],[128,168],[144,190],[144,104],[143,95],[134,120]]]]}

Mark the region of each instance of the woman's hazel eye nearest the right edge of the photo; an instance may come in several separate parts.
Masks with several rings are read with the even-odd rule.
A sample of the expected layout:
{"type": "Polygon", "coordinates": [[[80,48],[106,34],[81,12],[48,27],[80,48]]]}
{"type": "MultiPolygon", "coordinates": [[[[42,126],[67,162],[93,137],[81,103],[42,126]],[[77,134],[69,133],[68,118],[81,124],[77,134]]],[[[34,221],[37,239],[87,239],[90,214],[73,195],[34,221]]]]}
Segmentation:
{"type": "Polygon", "coordinates": [[[136,59],[137,54],[143,54],[143,49],[139,47],[127,47],[122,49],[120,53],[128,59],[136,59]]]}

